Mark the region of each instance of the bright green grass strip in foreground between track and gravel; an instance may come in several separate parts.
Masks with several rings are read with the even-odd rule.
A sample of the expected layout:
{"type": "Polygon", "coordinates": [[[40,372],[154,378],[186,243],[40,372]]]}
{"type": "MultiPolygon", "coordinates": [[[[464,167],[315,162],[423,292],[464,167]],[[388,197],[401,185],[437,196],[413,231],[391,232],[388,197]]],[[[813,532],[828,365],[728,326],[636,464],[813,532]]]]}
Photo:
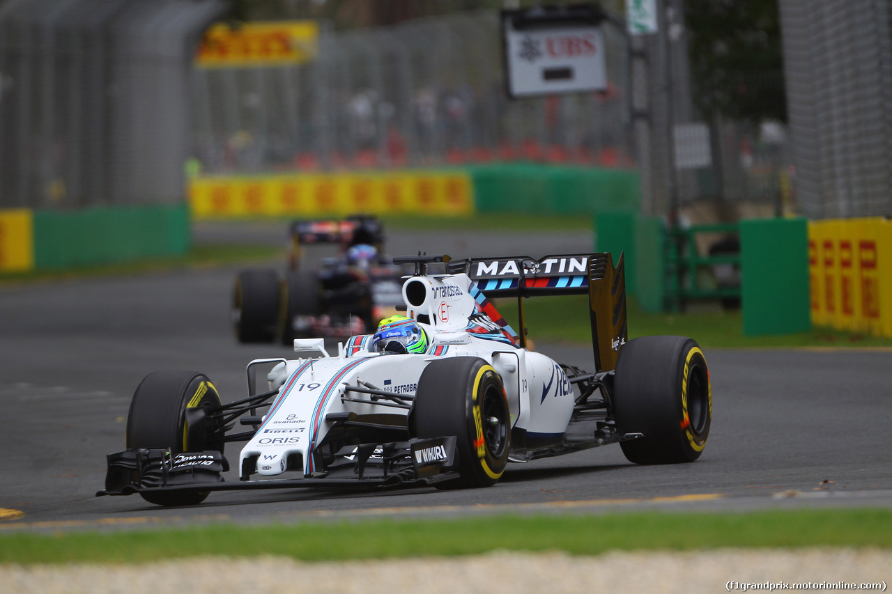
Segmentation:
{"type": "Polygon", "coordinates": [[[494,549],[596,555],[616,549],[818,546],[892,548],[892,510],[483,516],[54,535],[16,532],[0,533],[0,563],[145,563],[210,555],[325,561],[474,555],[494,549]]]}

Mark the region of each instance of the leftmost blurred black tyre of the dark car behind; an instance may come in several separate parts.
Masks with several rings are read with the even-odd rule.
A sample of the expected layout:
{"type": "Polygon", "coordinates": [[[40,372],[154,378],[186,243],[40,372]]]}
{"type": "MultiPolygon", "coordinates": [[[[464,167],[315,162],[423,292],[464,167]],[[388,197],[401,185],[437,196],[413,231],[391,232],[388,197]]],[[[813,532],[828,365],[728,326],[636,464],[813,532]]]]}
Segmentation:
{"type": "Polygon", "coordinates": [[[273,342],[279,315],[280,283],[273,269],[243,270],[235,278],[232,318],[239,342],[273,342]]]}

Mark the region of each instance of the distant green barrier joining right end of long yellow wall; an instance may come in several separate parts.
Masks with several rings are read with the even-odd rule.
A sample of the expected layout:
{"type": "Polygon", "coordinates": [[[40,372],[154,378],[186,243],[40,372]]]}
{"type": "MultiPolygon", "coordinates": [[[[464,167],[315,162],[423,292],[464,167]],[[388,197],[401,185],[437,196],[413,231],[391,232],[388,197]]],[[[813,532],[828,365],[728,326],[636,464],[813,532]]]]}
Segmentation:
{"type": "Polygon", "coordinates": [[[480,212],[637,211],[640,203],[640,178],[633,170],[506,163],[472,166],[467,171],[480,212]]]}

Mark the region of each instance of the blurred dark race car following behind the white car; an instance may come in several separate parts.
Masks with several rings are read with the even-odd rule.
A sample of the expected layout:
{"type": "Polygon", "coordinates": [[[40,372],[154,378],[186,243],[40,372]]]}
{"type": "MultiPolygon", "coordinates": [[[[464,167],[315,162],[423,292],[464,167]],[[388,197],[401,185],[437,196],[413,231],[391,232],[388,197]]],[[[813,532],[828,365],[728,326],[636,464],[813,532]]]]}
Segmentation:
{"type": "Polygon", "coordinates": [[[298,220],[290,228],[289,269],[242,270],[235,279],[232,318],[239,342],[290,345],[295,338],[347,338],[374,329],[401,303],[401,267],[382,254],[384,226],[370,215],[298,220]],[[318,268],[301,267],[306,246],[337,244],[318,268]]]}

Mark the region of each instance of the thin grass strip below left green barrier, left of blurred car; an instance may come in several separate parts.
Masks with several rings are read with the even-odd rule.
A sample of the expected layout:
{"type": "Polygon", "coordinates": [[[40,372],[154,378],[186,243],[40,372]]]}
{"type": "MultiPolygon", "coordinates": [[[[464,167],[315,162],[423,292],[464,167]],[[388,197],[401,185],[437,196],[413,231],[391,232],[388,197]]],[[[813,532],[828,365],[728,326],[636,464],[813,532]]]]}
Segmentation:
{"type": "Polygon", "coordinates": [[[96,264],[71,268],[48,268],[21,273],[0,273],[0,284],[35,280],[60,280],[89,276],[133,275],[174,268],[218,266],[239,262],[263,261],[278,258],[285,262],[282,248],[265,245],[199,244],[186,255],[169,258],[144,258],[111,264],[96,264]]]}

